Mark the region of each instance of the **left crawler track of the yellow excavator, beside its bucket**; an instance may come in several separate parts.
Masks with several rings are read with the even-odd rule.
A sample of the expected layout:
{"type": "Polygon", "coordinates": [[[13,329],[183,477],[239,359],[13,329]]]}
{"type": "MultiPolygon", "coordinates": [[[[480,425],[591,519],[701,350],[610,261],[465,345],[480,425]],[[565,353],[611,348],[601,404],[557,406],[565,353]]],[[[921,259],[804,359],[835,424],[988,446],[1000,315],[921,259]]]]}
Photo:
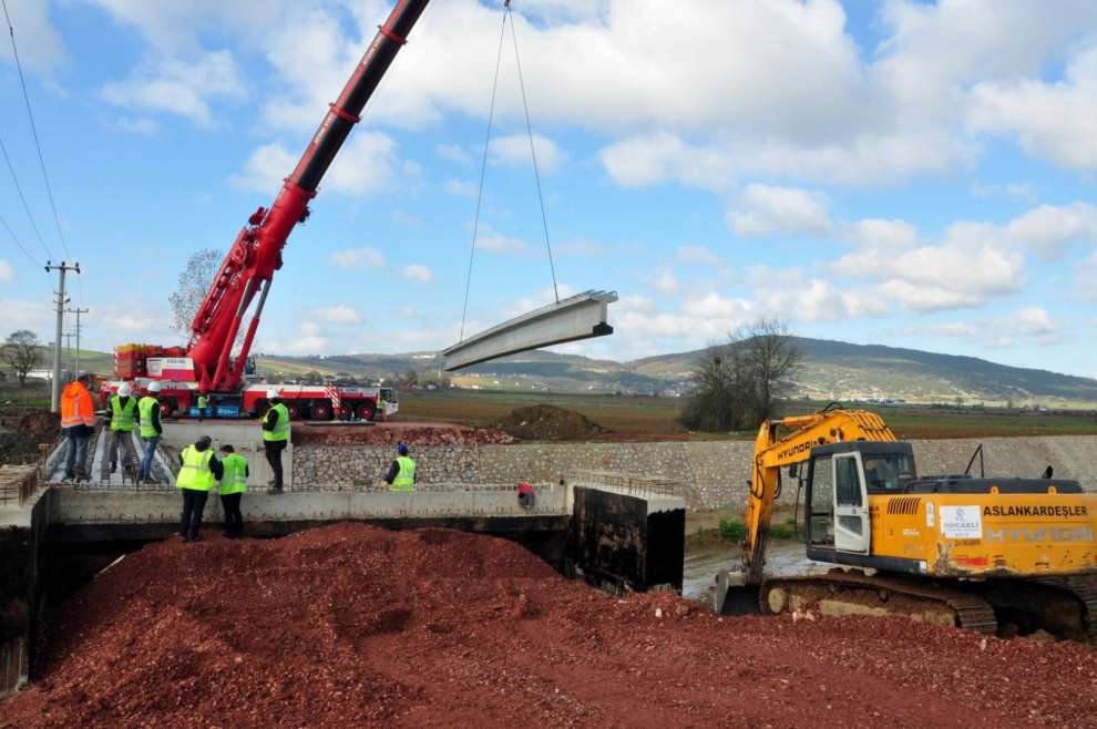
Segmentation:
{"type": "MultiPolygon", "coordinates": [[[[776,577],[763,581],[762,587],[758,593],[758,603],[762,613],[773,612],[769,600],[769,591],[779,585],[788,585],[792,589],[809,585],[826,589],[842,587],[859,588],[883,593],[888,597],[903,595],[947,606],[954,615],[957,627],[991,635],[995,634],[998,628],[998,622],[994,616],[994,607],[990,602],[977,595],[922,581],[881,575],[869,576],[861,572],[845,572],[842,569],[833,569],[823,575],[776,577]]],[[[885,605],[886,602],[881,599],[880,607],[886,609],[885,605]]],[[[893,614],[904,615],[902,610],[893,614]]]]}

